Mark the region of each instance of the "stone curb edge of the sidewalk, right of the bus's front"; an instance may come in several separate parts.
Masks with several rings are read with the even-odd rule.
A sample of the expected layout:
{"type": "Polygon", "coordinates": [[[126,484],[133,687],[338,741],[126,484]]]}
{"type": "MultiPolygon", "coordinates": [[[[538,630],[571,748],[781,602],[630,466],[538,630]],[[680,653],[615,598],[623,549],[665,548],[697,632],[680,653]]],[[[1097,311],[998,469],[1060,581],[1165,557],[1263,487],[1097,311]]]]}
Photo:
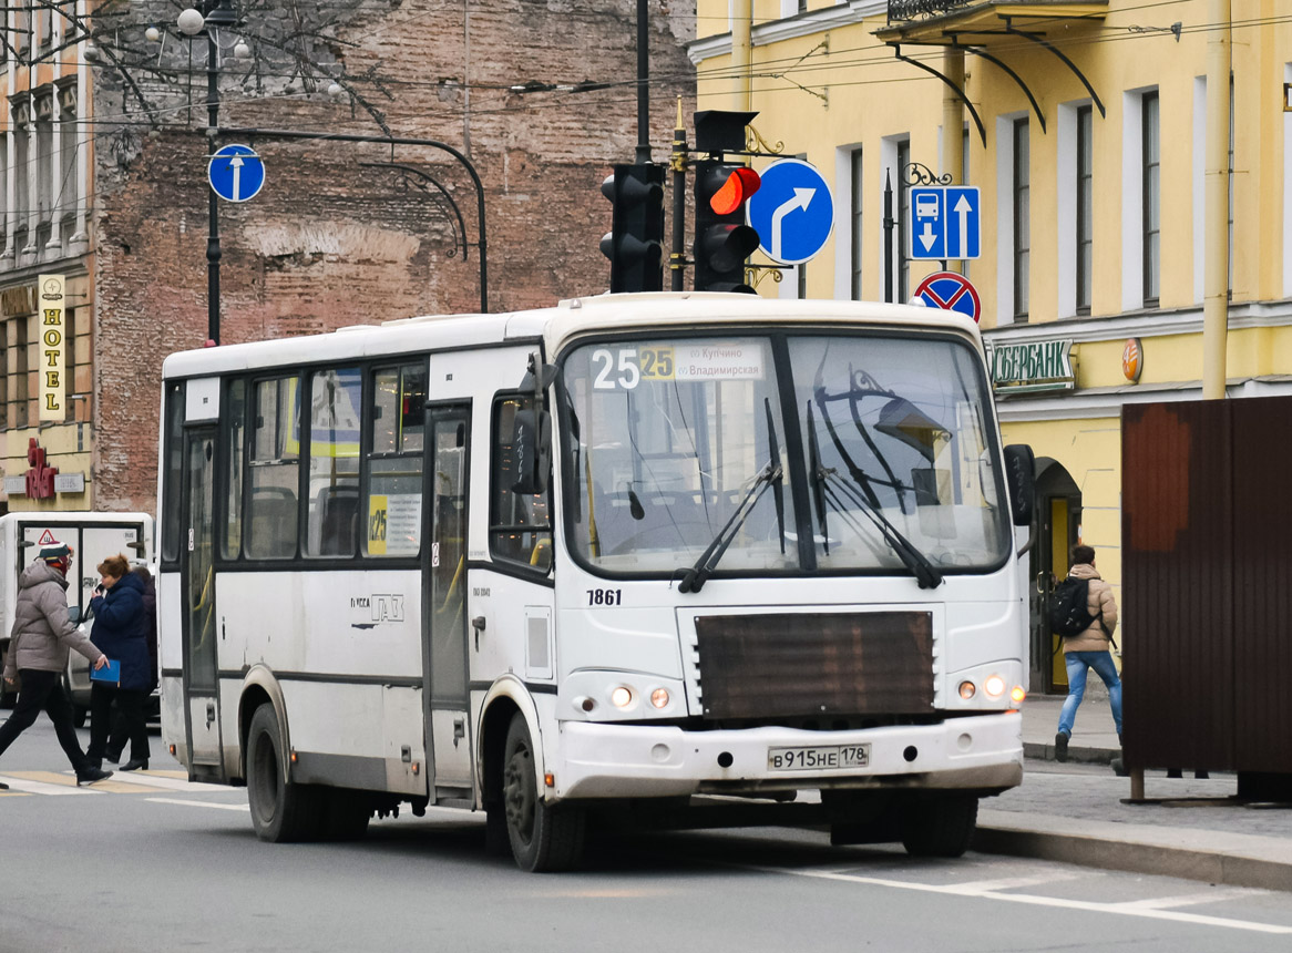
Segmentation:
{"type": "Polygon", "coordinates": [[[1103,870],[1292,891],[1292,863],[1280,864],[1258,857],[1124,842],[1089,834],[1041,833],[988,825],[978,828],[972,850],[1013,857],[1058,860],[1103,870]]]}

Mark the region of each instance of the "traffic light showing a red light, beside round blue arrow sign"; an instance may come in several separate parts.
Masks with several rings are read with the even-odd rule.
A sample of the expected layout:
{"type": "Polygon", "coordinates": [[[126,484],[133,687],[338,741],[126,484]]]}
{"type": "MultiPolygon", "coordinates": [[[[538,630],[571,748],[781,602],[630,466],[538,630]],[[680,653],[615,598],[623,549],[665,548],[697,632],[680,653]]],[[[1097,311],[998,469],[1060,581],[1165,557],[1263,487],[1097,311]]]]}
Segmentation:
{"type": "Polygon", "coordinates": [[[745,225],[744,207],[758,185],[748,167],[695,163],[695,291],[753,293],[744,283],[744,260],[758,247],[758,232],[745,225]]]}

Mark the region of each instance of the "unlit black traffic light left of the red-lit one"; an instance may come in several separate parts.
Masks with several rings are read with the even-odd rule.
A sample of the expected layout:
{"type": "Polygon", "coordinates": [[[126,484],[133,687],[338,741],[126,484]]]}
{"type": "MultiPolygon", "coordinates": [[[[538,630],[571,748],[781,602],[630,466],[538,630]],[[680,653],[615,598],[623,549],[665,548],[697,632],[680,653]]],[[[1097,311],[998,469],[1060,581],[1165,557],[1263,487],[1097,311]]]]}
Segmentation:
{"type": "Polygon", "coordinates": [[[601,183],[614,207],[601,253],[610,258],[610,291],[662,291],[664,272],[664,167],[616,165],[601,183]]]}

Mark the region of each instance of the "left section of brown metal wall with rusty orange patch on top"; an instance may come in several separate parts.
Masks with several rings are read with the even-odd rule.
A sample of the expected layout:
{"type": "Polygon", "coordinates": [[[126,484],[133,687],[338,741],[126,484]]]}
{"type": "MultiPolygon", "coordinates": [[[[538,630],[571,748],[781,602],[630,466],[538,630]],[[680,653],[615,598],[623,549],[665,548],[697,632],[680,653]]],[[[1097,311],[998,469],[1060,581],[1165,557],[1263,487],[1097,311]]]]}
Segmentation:
{"type": "Polygon", "coordinates": [[[1234,766],[1233,403],[1123,408],[1120,642],[1130,767],[1234,766]]]}

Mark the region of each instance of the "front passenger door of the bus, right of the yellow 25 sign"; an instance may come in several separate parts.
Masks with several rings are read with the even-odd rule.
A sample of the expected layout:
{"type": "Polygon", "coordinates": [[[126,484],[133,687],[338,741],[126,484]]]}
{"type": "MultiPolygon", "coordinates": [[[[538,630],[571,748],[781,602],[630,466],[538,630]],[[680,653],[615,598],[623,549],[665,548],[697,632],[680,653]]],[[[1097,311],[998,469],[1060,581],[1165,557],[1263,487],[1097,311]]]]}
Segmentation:
{"type": "Polygon", "coordinates": [[[433,404],[429,566],[422,572],[428,761],[434,801],[470,798],[472,726],[466,691],[466,465],[470,404],[433,404]]]}

